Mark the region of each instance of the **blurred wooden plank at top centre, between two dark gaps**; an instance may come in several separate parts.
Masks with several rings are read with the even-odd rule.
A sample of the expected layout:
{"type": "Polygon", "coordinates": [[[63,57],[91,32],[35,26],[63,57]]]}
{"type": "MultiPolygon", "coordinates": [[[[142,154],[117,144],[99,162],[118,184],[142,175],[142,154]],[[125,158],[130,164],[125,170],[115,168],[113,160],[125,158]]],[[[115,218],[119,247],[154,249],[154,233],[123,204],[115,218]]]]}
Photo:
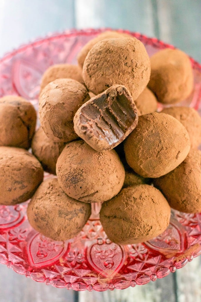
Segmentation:
{"type": "Polygon", "coordinates": [[[75,26],[123,28],[154,36],[151,1],[75,0],[75,26]]]}

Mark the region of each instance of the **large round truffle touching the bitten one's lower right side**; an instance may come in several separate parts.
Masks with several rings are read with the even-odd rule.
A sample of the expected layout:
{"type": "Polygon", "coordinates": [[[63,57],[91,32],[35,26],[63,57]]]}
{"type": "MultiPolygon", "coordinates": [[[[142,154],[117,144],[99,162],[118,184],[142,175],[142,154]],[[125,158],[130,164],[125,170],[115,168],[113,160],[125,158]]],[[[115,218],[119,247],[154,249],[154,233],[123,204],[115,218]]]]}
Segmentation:
{"type": "Polygon", "coordinates": [[[137,127],[124,141],[127,163],[145,178],[160,177],[175,169],[189,150],[186,128],[165,113],[141,115],[137,127]]]}

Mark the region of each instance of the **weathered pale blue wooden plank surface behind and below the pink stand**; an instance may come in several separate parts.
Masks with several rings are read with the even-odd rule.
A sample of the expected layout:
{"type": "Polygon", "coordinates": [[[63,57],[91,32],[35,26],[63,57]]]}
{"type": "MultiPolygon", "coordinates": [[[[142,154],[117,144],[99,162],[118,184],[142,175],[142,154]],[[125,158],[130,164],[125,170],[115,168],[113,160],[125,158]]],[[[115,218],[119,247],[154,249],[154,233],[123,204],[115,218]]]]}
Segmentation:
{"type": "MultiPolygon", "coordinates": [[[[0,57],[49,32],[123,28],[157,37],[201,62],[200,0],[0,0],[0,57]]],[[[0,302],[200,302],[201,257],[135,288],[75,292],[37,283],[0,264],[0,302]]]]}

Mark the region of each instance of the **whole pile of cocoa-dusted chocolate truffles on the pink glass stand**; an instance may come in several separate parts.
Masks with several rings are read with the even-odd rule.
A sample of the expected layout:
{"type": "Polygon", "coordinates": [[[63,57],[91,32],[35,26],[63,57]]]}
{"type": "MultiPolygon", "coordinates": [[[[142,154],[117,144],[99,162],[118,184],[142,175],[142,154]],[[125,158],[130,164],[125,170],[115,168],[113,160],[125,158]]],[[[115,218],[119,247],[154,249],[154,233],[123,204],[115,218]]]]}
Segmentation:
{"type": "Polygon", "coordinates": [[[31,226],[67,240],[99,202],[105,233],[123,245],[161,234],[171,207],[201,212],[201,118],[193,108],[169,107],[192,90],[181,50],[149,59],[136,38],[100,34],[80,50],[78,66],[44,73],[36,132],[29,101],[0,99],[0,204],[31,198],[31,226]],[[156,112],[158,102],[168,108],[156,112]],[[43,181],[43,171],[52,178],[43,181]]]}

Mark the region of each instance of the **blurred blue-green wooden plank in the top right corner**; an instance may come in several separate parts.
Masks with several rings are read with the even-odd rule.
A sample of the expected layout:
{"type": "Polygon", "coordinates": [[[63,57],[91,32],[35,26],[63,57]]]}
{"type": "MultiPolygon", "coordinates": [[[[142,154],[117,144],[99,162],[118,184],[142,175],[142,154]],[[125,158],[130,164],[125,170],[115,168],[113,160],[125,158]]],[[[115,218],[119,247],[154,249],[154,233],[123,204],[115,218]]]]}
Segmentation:
{"type": "Polygon", "coordinates": [[[200,0],[153,0],[153,4],[158,17],[156,37],[201,62],[200,0]]]}

